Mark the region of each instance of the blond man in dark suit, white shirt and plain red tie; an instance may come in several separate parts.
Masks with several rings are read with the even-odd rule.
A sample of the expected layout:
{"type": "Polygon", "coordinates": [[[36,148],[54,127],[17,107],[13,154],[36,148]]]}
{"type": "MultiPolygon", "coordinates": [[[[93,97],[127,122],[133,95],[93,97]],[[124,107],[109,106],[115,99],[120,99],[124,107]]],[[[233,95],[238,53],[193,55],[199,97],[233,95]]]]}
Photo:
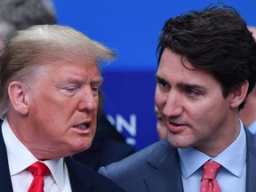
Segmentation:
{"type": "Polygon", "coordinates": [[[123,191],[71,157],[92,144],[98,63],[114,57],[73,28],[39,25],[12,36],[0,57],[1,190],[123,191]]]}

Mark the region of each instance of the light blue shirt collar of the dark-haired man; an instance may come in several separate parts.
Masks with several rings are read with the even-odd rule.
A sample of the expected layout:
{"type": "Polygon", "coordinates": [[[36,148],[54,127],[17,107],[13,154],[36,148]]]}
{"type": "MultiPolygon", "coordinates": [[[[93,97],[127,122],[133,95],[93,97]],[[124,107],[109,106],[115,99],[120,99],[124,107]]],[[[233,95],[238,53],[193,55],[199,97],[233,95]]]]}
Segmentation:
{"type": "Polygon", "coordinates": [[[207,156],[196,148],[178,148],[180,155],[180,167],[183,177],[187,180],[194,172],[196,172],[206,161],[212,159],[228,172],[241,177],[246,159],[246,137],[244,126],[240,121],[240,132],[236,140],[222,151],[218,156],[212,158],[207,156]]]}

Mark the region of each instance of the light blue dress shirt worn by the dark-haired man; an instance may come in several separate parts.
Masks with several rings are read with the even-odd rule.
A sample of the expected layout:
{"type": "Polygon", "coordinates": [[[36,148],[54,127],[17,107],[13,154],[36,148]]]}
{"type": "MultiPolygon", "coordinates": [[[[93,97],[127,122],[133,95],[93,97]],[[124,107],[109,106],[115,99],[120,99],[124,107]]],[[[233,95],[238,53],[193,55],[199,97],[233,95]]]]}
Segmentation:
{"type": "Polygon", "coordinates": [[[246,182],[246,136],[240,121],[240,132],[236,140],[212,158],[195,148],[179,148],[181,178],[184,192],[200,191],[203,174],[202,165],[212,159],[222,165],[216,176],[221,192],[244,192],[246,182]]]}

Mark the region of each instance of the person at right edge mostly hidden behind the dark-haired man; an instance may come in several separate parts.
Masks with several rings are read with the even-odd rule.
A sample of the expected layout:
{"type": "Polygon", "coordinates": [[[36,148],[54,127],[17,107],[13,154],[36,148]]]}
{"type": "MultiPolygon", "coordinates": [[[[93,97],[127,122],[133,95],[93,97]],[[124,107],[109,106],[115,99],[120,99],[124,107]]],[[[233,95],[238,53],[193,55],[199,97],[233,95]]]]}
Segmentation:
{"type": "MultiPolygon", "coordinates": [[[[252,31],[252,35],[256,38],[256,27],[248,27],[252,31]]],[[[252,132],[256,133],[256,87],[254,86],[252,92],[247,96],[246,104],[240,111],[240,117],[244,125],[252,132]]]]}

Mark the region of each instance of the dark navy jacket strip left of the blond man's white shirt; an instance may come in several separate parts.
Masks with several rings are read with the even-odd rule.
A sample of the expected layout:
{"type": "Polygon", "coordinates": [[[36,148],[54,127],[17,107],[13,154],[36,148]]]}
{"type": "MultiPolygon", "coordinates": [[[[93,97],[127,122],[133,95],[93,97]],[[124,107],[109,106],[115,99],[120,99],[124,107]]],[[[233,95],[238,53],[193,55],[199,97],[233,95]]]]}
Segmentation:
{"type": "MultiPolygon", "coordinates": [[[[3,121],[1,120],[0,126],[2,126],[3,121]]],[[[12,180],[9,171],[9,164],[7,159],[6,147],[4,144],[4,138],[2,129],[0,130],[0,187],[1,191],[12,192],[12,180]]]]}

